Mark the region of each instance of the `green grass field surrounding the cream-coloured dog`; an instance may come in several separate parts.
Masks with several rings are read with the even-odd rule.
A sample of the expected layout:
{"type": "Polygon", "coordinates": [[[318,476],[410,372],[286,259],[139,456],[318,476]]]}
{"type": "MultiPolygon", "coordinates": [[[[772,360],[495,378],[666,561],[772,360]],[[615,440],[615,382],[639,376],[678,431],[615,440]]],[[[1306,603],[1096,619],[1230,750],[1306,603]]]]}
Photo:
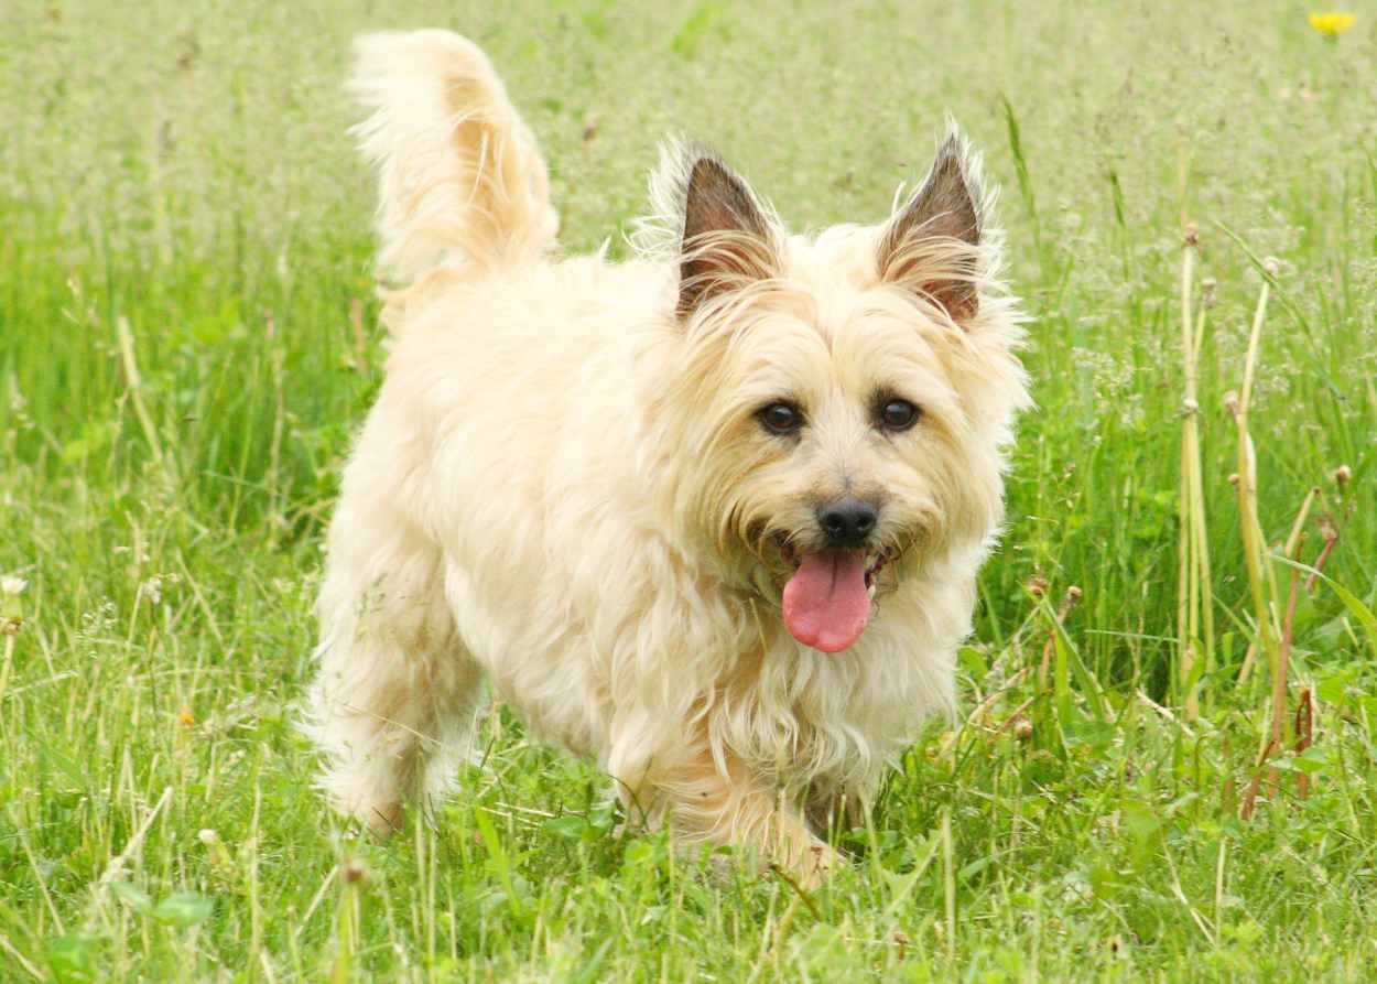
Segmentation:
{"type": "Polygon", "coordinates": [[[1308,12],[0,7],[0,980],[1371,977],[1377,19],[1308,12]],[[668,131],[797,226],[884,214],[949,109],[1004,185],[1038,409],[963,722],[828,888],[618,835],[496,710],[434,827],[377,845],[311,790],[321,533],[383,356],[340,83],[383,26],[492,52],[570,249],[625,249],[668,131]],[[1314,590],[1293,525],[1305,565],[1333,540],[1314,590]]]}

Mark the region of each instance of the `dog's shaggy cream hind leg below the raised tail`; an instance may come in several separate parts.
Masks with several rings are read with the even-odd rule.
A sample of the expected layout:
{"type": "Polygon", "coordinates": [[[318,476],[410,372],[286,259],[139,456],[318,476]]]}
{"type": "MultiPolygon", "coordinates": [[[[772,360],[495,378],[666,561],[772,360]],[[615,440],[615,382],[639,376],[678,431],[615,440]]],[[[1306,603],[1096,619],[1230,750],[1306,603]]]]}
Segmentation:
{"type": "Polygon", "coordinates": [[[387,834],[406,801],[448,784],[482,674],[454,631],[439,551],[392,522],[387,506],[350,492],[317,605],[321,666],[307,730],[325,754],[335,808],[387,834]]]}

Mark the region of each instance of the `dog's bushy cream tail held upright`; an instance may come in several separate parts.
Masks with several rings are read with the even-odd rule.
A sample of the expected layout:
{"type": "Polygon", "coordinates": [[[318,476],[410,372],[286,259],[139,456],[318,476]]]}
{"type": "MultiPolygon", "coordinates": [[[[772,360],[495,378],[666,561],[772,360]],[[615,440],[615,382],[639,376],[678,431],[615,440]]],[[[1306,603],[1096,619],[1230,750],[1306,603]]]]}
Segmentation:
{"type": "Polygon", "coordinates": [[[483,276],[538,258],[559,227],[545,161],[478,45],[417,30],[366,34],[355,50],[383,274],[409,284],[437,265],[483,276]]]}

